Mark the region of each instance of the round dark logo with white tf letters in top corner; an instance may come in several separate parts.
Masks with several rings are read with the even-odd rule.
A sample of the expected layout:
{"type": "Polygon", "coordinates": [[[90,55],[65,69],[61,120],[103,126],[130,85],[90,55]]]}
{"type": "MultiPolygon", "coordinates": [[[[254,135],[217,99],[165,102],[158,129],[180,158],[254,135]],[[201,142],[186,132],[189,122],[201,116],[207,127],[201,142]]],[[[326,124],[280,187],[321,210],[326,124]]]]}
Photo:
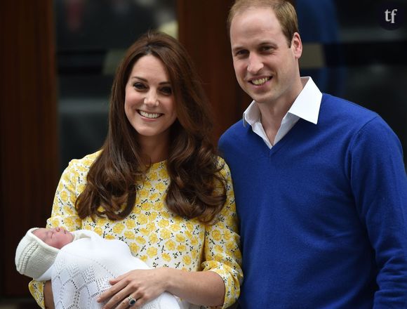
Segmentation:
{"type": "Polygon", "coordinates": [[[398,2],[383,2],[377,8],[380,25],[387,30],[398,29],[404,22],[405,8],[398,2]]]}

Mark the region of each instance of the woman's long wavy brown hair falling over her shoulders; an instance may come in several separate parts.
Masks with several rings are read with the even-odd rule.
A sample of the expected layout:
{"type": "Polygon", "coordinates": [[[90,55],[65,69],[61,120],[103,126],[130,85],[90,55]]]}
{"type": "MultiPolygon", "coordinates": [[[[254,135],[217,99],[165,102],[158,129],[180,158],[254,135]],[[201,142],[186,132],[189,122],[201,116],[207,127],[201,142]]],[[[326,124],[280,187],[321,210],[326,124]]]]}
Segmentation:
{"type": "Polygon", "coordinates": [[[166,67],[178,116],[170,129],[167,169],[171,182],[166,206],[179,216],[210,223],[225,204],[226,181],[211,142],[209,103],[185,48],[161,32],[147,32],[135,41],[116,71],[107,138],[88,171],[76,210],[80,218],[107,216],[111,220],[121,220],[133,210],[136,183],[145,179],[147,169],[138,133],[124,112],[124,100],[133,65],[144,55],[153,55],[166,67]]]}

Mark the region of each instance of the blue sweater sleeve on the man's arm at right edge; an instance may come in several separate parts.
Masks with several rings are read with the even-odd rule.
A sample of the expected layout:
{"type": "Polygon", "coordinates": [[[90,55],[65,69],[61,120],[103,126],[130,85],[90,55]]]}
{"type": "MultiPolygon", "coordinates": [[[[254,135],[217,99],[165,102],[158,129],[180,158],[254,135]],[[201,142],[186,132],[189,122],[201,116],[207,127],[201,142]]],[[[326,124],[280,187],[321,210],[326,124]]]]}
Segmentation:
{"type": "Polygon", "coordinates": [[[407,177],[401,144],[376,117],[349,147],[352,191],[378,266],[374,307],[407,308],[407,177]]]}

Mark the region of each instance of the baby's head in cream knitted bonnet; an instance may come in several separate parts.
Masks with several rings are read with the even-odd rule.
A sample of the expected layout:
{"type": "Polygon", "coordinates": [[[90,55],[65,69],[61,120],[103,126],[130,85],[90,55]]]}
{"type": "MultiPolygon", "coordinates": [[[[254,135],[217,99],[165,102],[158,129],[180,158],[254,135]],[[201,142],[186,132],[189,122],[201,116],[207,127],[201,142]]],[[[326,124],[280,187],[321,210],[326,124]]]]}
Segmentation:
{"type": "Polygon", "coordinates": [[[22,275],[39,279],[55,261],[59,249],[74,235],[63,228],[32,228],[15,251],[15,266],[22,275]]]}

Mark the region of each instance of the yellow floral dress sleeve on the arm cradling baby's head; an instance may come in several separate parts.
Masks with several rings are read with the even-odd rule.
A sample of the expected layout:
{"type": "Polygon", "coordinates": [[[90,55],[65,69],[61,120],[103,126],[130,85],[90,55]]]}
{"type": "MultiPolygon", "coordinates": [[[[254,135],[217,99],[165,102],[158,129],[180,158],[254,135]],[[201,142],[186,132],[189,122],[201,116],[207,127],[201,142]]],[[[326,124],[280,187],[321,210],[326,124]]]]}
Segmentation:
{"type": "MultiPolygon", "coordinates": [[[[72,160],[62,173],[58,188],[55,192],[51,218],[47,220],[47,228],[64,227],[69,231],[81,228],[81,219],[76,213],[75,201],[79,193],[84,190],[87,169],[80,160],[72,160]]],[[[36,280],[29,282],[29,292],[41,308],[44,304],[44,283],[36,280]]]]}

